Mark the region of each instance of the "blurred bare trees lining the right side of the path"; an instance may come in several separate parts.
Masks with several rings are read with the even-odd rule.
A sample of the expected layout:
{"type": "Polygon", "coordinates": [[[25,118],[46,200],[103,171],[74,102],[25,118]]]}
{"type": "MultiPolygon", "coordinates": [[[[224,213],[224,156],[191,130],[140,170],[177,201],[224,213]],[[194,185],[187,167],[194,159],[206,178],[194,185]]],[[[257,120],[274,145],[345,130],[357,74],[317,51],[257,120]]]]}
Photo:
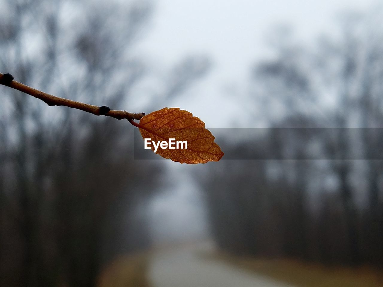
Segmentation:
{"type": "Polygon", "coordinates": [[[223,162],[203,182],[221,248],[381,264],[382,27],[368,21],[349,14],[317,49],[273,39],[274,57],[254,65],[250,97],[271,129],[226,154],[263,160],[223,162]]]}

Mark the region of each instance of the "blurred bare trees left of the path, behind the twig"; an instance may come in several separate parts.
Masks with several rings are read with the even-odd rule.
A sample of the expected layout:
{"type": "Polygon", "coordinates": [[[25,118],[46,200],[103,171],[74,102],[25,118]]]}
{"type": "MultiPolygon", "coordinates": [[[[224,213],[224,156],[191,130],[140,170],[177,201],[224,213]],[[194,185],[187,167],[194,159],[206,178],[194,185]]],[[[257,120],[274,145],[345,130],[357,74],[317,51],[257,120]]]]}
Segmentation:
{"type": "MultiPolygon", "coordinates": [[[[150,2],[0,4],[0,65],[20,82],[123,109],[151,77],[133,52],[150,2]]],[[[182,75],[171,75],[155,101],[167,103],[203,75],[208,61],[198,59],[181,62],[182,75]]],[[[12,90],[2,103],[0,285],[94,286],[115,256],[150,244],[138,207],[158,190],[161,163],[133,162],[127,121],[47,108],[12,90]]]]}

